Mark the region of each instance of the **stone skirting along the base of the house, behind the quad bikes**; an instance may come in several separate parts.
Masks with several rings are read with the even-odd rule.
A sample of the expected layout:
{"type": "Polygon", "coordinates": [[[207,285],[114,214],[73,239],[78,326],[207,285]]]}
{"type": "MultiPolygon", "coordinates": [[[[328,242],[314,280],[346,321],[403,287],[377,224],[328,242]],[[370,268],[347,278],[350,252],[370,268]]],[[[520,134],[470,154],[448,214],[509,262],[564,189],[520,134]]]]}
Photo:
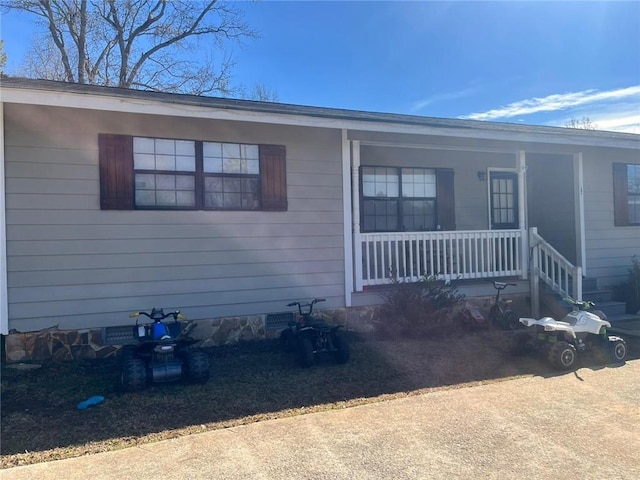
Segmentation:
{"type": "MultiPolygon", "coordinates": [[[[375,312],[375,307],[352,307],[323,310],[318,315],[351,331],[367,331],[373,328],[375,312]]],[[[265,329],[265,315],[199,320],[190,332],[191,337],[200,340],[201,347],[274,338],[277,334],[265,329]]],[[[102,328],[12,332],[5,337],[5,356],[9,363],[108,358],[114,356],[119,347],[105,344],[102,328]]]]}

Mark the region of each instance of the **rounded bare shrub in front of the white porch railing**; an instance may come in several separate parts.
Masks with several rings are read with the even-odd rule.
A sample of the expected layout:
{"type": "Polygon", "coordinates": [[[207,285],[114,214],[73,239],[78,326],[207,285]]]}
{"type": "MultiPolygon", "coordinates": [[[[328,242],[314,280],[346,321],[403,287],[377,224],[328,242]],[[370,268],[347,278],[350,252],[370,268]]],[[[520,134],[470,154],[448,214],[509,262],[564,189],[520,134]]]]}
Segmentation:
{"type": "Polygon", "coordinates": [[[417,282],[394,280],[381,294],[376,332],[388,338],[433,337],[455,324],[453,310],[464,295],[451,284],[433,277],[417,282]]]}

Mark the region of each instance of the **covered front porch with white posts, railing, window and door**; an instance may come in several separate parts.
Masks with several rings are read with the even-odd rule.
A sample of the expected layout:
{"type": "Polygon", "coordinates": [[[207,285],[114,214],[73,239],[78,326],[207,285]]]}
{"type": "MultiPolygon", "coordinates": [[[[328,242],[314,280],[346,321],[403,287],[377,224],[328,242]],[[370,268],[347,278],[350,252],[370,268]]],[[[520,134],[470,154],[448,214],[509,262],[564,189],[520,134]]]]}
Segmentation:
{"type": "Polygon", "coordinates": [[[580,153],[495,141],[347,144],[354,294],[422,277],[485,284],[517,277],[530,284],[533,298],[537,279],[581,298],[580,153]],[[556,183],[566,187],[563,202],[549,209],[557,199],[545,200],[551,192],[544,190],[556,183]],[[531,219],[559,240],[559,249],[531,219]]]}

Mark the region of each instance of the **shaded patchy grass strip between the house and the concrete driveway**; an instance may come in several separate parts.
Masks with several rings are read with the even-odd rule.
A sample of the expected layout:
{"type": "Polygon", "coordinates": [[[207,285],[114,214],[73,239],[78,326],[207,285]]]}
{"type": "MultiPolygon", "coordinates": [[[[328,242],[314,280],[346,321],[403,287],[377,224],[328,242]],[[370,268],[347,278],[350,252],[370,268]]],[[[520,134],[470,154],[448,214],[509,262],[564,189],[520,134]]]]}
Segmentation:
{"type": "MultiPolygon", "coordinates": [[[[260,341],[211,350],[205,385],[170,383],[139,393],[118,389],[114,361],[2,369],[0,468],[115,450],[265,419],[346,408],[432,389],[553,374],[534,357],[506,353],[506,333],[483,331],[438,340],[351,335],[351,359],[310,369],[260,341]],[[103,404],[76,404],[103,395],[103,404]]],[[[630,344],[638,357],[640,345],[630,344]]],[[[593,359],[582,356],[582,366],[593,359]],[[586,362],[586,363],[584,363],[586,362]]]]}

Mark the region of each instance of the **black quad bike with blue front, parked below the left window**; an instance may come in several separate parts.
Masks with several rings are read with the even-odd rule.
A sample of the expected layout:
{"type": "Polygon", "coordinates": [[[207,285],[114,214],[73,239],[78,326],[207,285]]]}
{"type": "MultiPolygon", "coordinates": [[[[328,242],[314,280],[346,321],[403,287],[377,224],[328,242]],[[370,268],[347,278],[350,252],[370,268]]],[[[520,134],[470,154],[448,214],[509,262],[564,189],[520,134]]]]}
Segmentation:
{"type": "Polygon", "coordinates": [[[191,348],[197,340],[188,337],[188,332],[195,324],[185,323],[187,318],[180,311],[164,313],[161,308],[153,308],[150,313],[134,312],[129,317],[136,319],[132,328],[138,344],[122,347],[124,390],[141,390],[152,383],[180,379],[192,383],[209,380],[209,356],[191,348]],[[151,322],[140,323],[140,316],[151,322]],[[172,318],[173,322],[165,322],[167,318],[172,318]]]}

